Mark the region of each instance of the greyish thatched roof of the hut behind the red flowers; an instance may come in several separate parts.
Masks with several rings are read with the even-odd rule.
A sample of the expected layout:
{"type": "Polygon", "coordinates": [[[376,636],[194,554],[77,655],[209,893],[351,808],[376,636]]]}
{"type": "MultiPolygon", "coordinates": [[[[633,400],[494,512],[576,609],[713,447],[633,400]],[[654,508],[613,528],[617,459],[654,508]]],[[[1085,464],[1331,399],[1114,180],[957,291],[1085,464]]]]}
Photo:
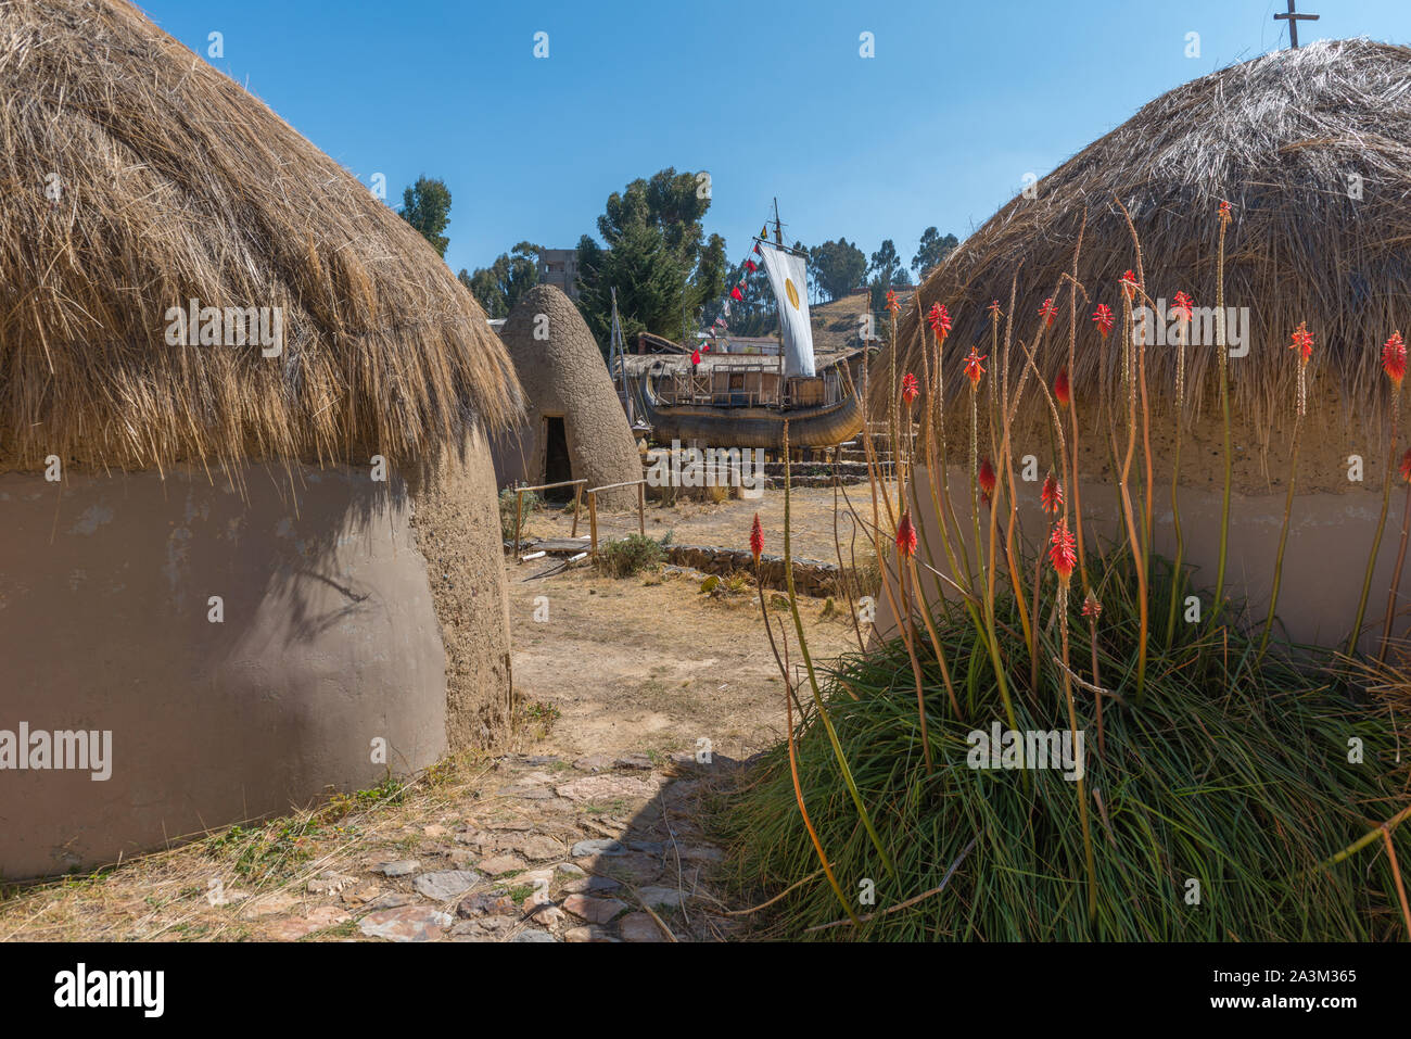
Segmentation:
{"type": "MultiPolygon", "coordinates": [[[[1086,217],[1074,387],[1081,402],[1105,364],[1115,390],[1119,352],[1099,349],[1089,319],[1099,302],[1120,319],[1118,281],[1137,268],[1115,199],[1140,236],[1150,296],[1170,302],[1185,291],[1198,306],[1215,305],[1218,210],[1222,199],[1232,203],[1225,302],[1247,306],[1253,325],[1249,356],[1230,363],[1243,421],[1264,426],[1273,408],[1288,411],[1295,366],[1284,347],[1301,320],[1318,344],[1309,370],[1315,385],[1324,383],[1318,392],[1340,395],[1360,415],[1380,400],[1380,346],[1394,329],[1411,332],[1411,51],[1367,40],[1318,42],[1146,104],[1038,181],[1034,199],[1020,195],[1000,209],[927,280],[919,308],[903,312],[903,370],[921,374],[917,309],[943,302],[955,322],[944,359],[954,392],[964,353],[972,343],[989,350],[985,308],[998,299],[1009,309],[1017,271],[1016,340],[1033,342],[1046,296],[1060,304],[1041,359],[1051,377],[1068,353],[1060,278],[1086,217]],[[1353,198],[1355,175],[1362,198],[1353,198]]],[[[1016,346],[1012,364],[1022,357],[1016,346]]],[[[1147,350],[1157,400],[1171,397],[1174,361],[1174,347],[1147,350]]],[[[1192,347],[1188,364],[1189,405],[1209,407],[1215,349],[1192,347]]],[[[886,394],[890,380],[875,385],[886,394]]]]}

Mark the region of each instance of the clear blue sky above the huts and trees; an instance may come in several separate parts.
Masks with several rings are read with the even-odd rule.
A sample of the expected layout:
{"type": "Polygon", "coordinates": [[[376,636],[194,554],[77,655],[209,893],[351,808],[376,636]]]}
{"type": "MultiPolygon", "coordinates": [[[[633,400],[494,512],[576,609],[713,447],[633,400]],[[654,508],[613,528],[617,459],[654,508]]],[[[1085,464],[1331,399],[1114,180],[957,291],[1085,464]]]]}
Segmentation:
{"type": "MultiPolygon", "coordinates": [[[[792,239],[890,237],[910,261],[928,224],[964,239],[1024,174],[1288,41],[1285,0],[137,1],[202,56],[222,32],[209,61],[391,202],[444,179],[453,270],[571,247],[663,167],[710,171],[732,263],[775,195],[792,239]]],[[[1411,42],[1408,0],[1300,8],[1322,16],[1300,42],[1411,42]]]]}

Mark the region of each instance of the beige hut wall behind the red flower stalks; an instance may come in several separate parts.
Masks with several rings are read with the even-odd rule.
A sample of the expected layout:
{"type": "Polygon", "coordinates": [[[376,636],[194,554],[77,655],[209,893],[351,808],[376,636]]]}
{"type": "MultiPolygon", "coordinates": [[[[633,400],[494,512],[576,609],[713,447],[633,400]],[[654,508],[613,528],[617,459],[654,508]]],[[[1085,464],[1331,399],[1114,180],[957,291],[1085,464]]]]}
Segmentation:
{"type": "MultiPolygon", "coordinates": [[[[924,469],[917,469],[917,474],[920,480],[917,490],[923,503],[919,511],[926,520],[926,532],[938,558],[937,569],[944,570],[944,552],[934,524],[934,510],[930,504],[928,476],[924,469]]],[[[951,467],[947,480],[951,487],[952,507],[968,525],[971,515],[969,474],[964,467],[951,467]]],[[[1113,538],[1122,518],[1116,488],[1085,480],[1081,490],[1086,535],[1091,538],[1092,532],[1098,529],[1105,538],[1113,538]]],[[[1036,535],[1041,536],[1041,532],[1047,531],[1047,517],[1038,510],[1038,484],[1019,483],[1019,494],[1024,500],[1024,505],[1020,508],[1020,524],[1033,542],[1036,535]]],[[[1381,618],[1386,615],[1387,589],[1401,538],[1404,503],[1404,488],[1394,487],[1364,620],[1364,624],[1374,621],[1374,631],[1370,635],[1363,635],[1363,647],[1374,645],[1380,637],[1381,618]]],[[[1175,528],[1168,486],[1157,490],[1153,504],[1156,549],[1161,555],[1173,558],[1175,555],[1175,528]]],[[[1139,501],[1134,501],[1133,505],[1140,508],[1139,501]]],[[[1380,508],[1380,491],[1294,496],[1283,586],[1278,593],[1278,617],[1295,639],[1325,647],[1346,642],[1357,613],[1357,599],[1362,593],[1367,553],[1371,549],[1380,508]]],[[[1213,491],[1181,488],[1185,563],[1199,567],[1194,575],[1194,582],[1195,587],[1204,593],[1215,589],[1221,511],[1221,491],[1218,488],[1213,491]]],[[[1254,624],[1263,624],[1267,615],[1283,517],[1283,493],[1260,496],[1236,493],[1230,497],[1226,590],[1228,594],[1245,597],[1249,601],[1250,620],[1254,624]]],[[[1007,520],[1007,514],[1002,518],[1007,520]]],[[[988,522],[988,512],[982,512],[982,522],[988,522]]],[[[982,529],[988,531],[988,527],[982,527],[982,529]]],[[[1125,535],[1122,536],[1125,541],[1125,535]]],[[[1074,582],[1077,587],[1077,576],[1074,576],[1074,582]]],[[[930,587],[930,582],[926,583],[930,587]]],[[[1400,608],[1407,607],[1408,597],[1411,597],[1411,577],[1404,577],[1400,608]]],[[[880,596],[878,631],[892,632],[895,627],[886,596],[880,596]]],[[[1408,621],[1403,617],[1395,630],[1405,632],[1407,627],[1408,621]]]]}

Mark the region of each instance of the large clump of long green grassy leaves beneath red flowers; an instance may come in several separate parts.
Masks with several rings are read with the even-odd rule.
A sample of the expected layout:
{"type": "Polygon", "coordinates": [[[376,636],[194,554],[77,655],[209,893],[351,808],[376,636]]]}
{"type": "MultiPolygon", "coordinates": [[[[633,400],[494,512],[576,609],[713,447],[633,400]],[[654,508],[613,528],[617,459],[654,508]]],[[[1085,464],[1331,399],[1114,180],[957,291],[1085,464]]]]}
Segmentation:
{"type": "MultiPolygon", "coordinates": [[[[1089,566],[1101,569],[1096,560],[1089,566]]],[[[1102,685],[1123,695],[1137,655],[1134,579],[1129,558],[1115,565],[1109,555],[1108,566],[1098,654],[1102,685]]],[[[1153,593],[1160,601],[1160,586],[1153,593]]],[[[1072,668],[1091,679],[1078,601],[1070,618],[1072,668]]],[[[1000,594],[996,601],[1020,730],[1068,728],[1051,613],[1050,604],[1038,618],[1043,666],[1038,687],[1029,689],[1013,600],[1000,594]]],[[[804,802],[838,882],[849,898],[868,881],[875,885],[875,903],[855,905],[861,926],[809,932],[844,913],[800,819],[786,745],[725,799],[718,826],[732,841],[741,891],[762,902],[799,884],[770,906],[773,933],[989,942],[1404,937],[1380,843],[1331,868],[1319,865],[1404,806],[1405,767],[1394,764],[1390,724],[1307,659],[1297,666],[1273,655],[1259,661],[1257,632],[1254,641],[1240,634],[1236,608],[1221,611],[1219,627],[1178,625],[1170,647],[1151,641],[1141,706],[1126,696],[1105,702],[1103,758],[1094,696],[1074,690],[1096,857],[1091,920],[1077,783],[1060,771],[968,767],[967,734],[988,731],[996,720],[1007,724],[988,648],[965,610],[952,603],[935,621],[964,720],[952,716],[923,632],[917,655],[930,662],[923,672],[935,758],[930,776],[900,639],[820,672],[838,740],[899,881],[859,822],[811,704],[797,728],[804,802]],[[1353,738],[1362,741],[1356,764],[1349,761],[1353,738]],[[941,885],[971,841],[941,892],[883,913],[941,885]],[[1198,903],[1189,901],[1191,881],[1199,884],[1198,903]]],[[[1395,833],[1395,846],[1400,861],[1411,863],[1407,827],[1395,833]]]]}

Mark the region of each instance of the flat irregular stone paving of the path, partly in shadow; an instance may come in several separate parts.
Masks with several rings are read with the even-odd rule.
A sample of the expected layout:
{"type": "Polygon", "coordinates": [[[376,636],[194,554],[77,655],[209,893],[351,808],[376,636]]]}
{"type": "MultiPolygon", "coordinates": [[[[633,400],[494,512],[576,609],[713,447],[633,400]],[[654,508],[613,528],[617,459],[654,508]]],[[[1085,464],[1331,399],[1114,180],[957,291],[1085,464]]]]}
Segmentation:
{"type": "Polygon", "coordinates": [[[728,939],[741,925],[710,884],[724,854],[694,820],[731,768],[687,754],[505,757],[463,817],[380,834],[361,868],[236,911],[275,940],[728,939]]]}

